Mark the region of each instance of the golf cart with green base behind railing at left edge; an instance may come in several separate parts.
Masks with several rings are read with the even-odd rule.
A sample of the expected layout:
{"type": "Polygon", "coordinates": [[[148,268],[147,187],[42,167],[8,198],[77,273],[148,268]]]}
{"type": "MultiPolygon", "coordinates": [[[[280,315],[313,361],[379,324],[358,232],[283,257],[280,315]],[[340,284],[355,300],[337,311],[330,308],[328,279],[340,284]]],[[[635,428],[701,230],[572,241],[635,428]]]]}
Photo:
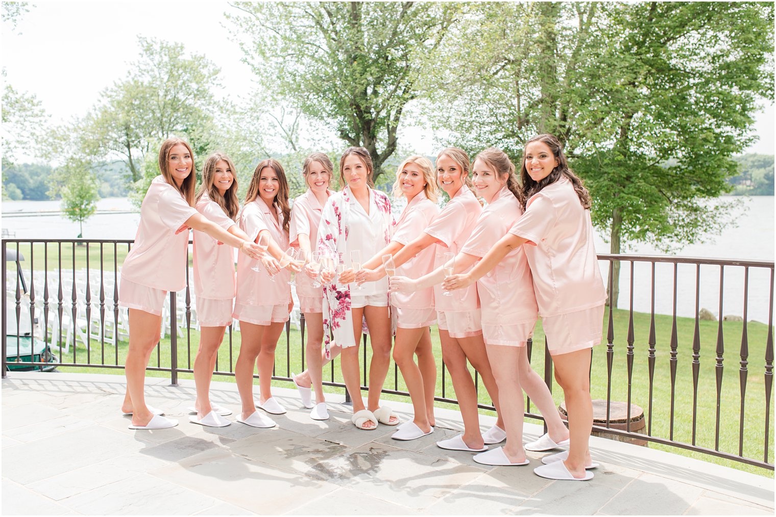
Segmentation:
{"type": "MultiPolygon", "coordinates": [[[[59,363],[59,359],[48,343],[45,343],[38,329],[38,319],[30,321],[29,318],[29,292],[27,283],[22,271],[21,262],[24,256],[21,252],[17,254],[16,250],[5,250],[5,262],[16,263],[16,275],[19,280],[19,287],[22,296],[19,299],[19,320],[16,319],[16,288],[5,291],[5,360],[8,371],[54,371],[59,363]],[[33,350],[34,336],[34,350],[33,350]],[[47,365],[33,366],[30,364],[17,363],[48,363],[47,365]]],[[[7,267],[7,264],[6,264],[7,267]]],[[[9,277],[9,284],[16,284],[16,278],[9,277]]]]}

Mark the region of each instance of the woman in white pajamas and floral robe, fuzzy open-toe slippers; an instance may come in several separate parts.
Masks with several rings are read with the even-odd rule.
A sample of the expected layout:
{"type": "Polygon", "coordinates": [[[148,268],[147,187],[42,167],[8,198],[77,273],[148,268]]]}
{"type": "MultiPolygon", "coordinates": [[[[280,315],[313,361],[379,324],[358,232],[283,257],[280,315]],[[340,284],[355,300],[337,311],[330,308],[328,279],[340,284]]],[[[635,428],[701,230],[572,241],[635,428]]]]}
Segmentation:
{"type": "Polygon", "coordinates": [[[390,243],[393,228],[390,201],[372,188],[372,170],[369,151],[363,147],[345,150],[340,158],[340,184],[345,188],[329,196],[318,228],[318,250],[333,257],[339,254],[345,263],[345,271],[324,286],[324,339],[328,346],[331,330],[342,347],[342,377],[353,400],[352,422],[364,430],[376,429],[377,422],[389,426],[399,423],[388,406],[379,405],[390,366],[388,282],[369,282],[361,288],[352,283],[361,269],[361,257],[372,257],[390,243]],[[363,320],[372,345],[366,406],[359,374],[363,320]]]}

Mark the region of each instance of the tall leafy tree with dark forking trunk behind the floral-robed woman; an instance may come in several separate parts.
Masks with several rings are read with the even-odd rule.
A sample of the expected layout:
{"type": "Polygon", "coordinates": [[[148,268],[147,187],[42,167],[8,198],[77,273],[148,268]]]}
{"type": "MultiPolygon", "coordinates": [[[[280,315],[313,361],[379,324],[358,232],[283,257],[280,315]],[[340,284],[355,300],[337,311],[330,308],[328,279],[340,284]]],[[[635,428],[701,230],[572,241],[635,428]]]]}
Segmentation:
{"type": "Polygon", "coordinates": [[[310,119],[369,150],[376,177],[408,102],[431,72],[456,5],[438,2],[236,2],[227,15],[258,81],[310,119]],[[272,23],[267,23],[272,20],[272,23]]]}

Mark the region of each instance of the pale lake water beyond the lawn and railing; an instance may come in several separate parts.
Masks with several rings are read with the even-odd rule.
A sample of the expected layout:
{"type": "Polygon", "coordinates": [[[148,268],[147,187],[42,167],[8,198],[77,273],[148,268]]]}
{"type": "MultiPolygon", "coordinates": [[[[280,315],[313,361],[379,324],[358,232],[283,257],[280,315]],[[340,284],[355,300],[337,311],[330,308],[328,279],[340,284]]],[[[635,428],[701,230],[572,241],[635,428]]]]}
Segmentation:
{"type": "MultiPolygon", "coordinates": [[[[742,198],[721,198],[729,202],[742,198]]],[[[2,202],[2,228],[16,233],[19,239],[71,239],[78,236],[78,224],[49,212],[60,209],[57,201],[2,202]]],[[[84,226],[87,239],[133,239],[140,222],[140,214],[131,212],[133,206],[126,198],[101,199],[98,214],[84,226]],[[130,212],[130,213],[127,213],[130,212]]],[[[743,210],[736,217],[736,226],[724,229],[720,236],[705,236],[707,242],[685,246],[677,251],[682,257],[719,257],[749,260],[774,260],[774,197],[743,198],[743,210]]],[[[598,253],[608,253],[609,245],[596,236],[598,253]]],[[[646,244],[632,246],[625,253],[662,255],[646,244]]],[[[601,262],[601,274],[608,278],[608,263],[601,262]]],[[[700,306],[719,315],[719,266],[701,267],[700,306]]],[[[633,308],[650,312],[651,265],[634,266],[633,308]]],[[[657,264],[655,268],[655,312],[671,314],[674,288],[673,264],[657,264]]],[[[724,270],[722,315],[743,315],[743,267],[726,266],[724,270]]],[[[747,319],[768,321],[770,298],[770,271],[750,268],[749,308],[747,319]]],[[[629,307],[630,265],[622,264],[620,274],[619,307],[629,307]]],[[[680,265],[677,275],[677,315],[695,315],[695,266],[680,265]]]]}

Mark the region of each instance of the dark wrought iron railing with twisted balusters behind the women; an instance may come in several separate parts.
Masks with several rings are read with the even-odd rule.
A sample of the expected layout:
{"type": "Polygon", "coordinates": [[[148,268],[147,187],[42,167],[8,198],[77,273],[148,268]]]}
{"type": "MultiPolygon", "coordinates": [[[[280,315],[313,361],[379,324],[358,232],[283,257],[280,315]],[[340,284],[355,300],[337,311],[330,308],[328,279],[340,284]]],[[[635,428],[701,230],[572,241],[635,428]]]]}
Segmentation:
{"type": "MultiPolygon", "coordinates": [[[[19,367],[41,370],[52,366],[123,368],[120,348],[127,339],[126,309],[118,307],[118,286],[120,265],[132,243],[131,240],[2,240],[2,261],[5,264],[2,283],[5,288],[4,303],[7,305],[2,312],[3,377],[9,368],[19,367]],[[24,260],[17,261],[22,255],[24,260]],[[36,322],[40,335],[26,335],[25,321],[31,327],[36,322]],[[12,327],[9,328],[9,323],[14,322],[16,333],[13,333],[12,327]],[[41,339],[59,355],[56,363],[52,363],[52,356],[48,353],[35,352],[36,341],[40,348],[41,339]],[[79,339],[81,345],[85,345],[84,350],[79,350],[79,339]],[[28,341],[29,357],[23,352],[28,341]]],[[[624,310],[606,312],[605,322],[602,322],[605,343],[594,349],[591,392],[594,398],[601,395],[606,402],[605,419],[597,422],[594,431],[679,447],[773,470],[770,442],[773,419],[774,262],[608,254],[598,255],[598,260],[610,284],[615,271],[622,268],[620,276],[625,276],[623,294],[629,303],[624,310]],[[615,267],[615,264],[619,264],[619,267],[615,267]],[[661,273],[665,273],[666,267],[672,270],[672,274],[663,274],[660,282],[656,282],[656,270],[660,268],[661,273]],[[639,271],[645,268],[649,270],[645,274],[650,275],[650,310],[637,312],[634,309],[635,302],[636,305],[644,305],[646,293],[636,297],[634,291],[639,288],[635,278],[639,275],[644,277],[645,274],[639,271]],[[694,293],[688,268],[695,273],[694,293]],[[716,280],[709,280],[710,272],[716,277],[715,270],[719,270],[716,285],[716,280]],[[731,274],[730,271],[735,271],[738,277],[743,272],[740,304],[743,322],[740,325],[739,322],[727,322],[722,318],[723,308],[729,310],[729,298],[733,298],[729,293],[726,295],[729,285],[726,287],[725,278],[726,274],[731,274]],[[767,326],[747,322],[752,307],[752,277],[755,277],[754,287],[759,293],[757,312],[767,315],[767,326]],[[677,312],[680,284],[684,284],[686,291],[683,295],[694,295],[694,317],[683,318],[681,311],[677,312]],[[701,293],[703,291],[708,298],[708,291],[712,288],[719,290],[716,300],[719,304],[719,319],[716,322],[705,322],[699,315],[702,309],[701,293]],[[655,311],[656,299],[660,297],[667,298],[669,305],[672,305],[666,315],[655,311]],[[764,305],[767,305],[767,312],[763,310],[764,305]],[[704,337],[713,333],[710,326],[716,327],[713,343],[704,337]],[[688,336],[690,327],[692,336],[688,336]],[[646,343],[637,337],[642,333],[647,335],[646,343]],[[662,339],[660,333],[666,339],[662,339]],[[734,350],[730,350],[731,333],[736,333],[734,350]],[[725,354],[733,351],[734,366],[726,366],[731,359],[725,354]],[[711,367],[713,374],[709,371],[711,367]],[[738,373],[737,379],[733,381],[729,374],[726,376],[726,371],[731,368],[738,373]],[[735,395],[737,404],[733,404],[735,395]],[[625,398],[627,402],[624,429],[620,429],[623,426],[615,428],[611,422],[611,404],[617,398],[625,398]],[[637,429],[631,427],[631,408],[635,407],[631,404],[644,405],[645,399],[643,412],[646,430],[637,433],[637,429]],[[708,419],[709,412],[713,412],[712,419],[708,419]],[[737,436],[734,436],[736,433],[737,436]]],[[[188,263],[186,268],[188,273],[188,263]]],[[[740,288],[742,282],[737,280],[734,284],[740,288]]],[[[611,292],[609,296],[609,305],[615,305],[612,303],[611,292]]],[[[172,384],[177,384],[178,374],[193,371],[192,332],[196,332],[193,328],[195,313],[188,284],[182,293],[170,293],[165,315],[170,333],[169,348],[163,350],[167,346],[161,344],[156,347],[156,359],[151,360],[149,370],[169,372],[172,384]],[[169,358],[166,357],[168,354],[169,358]],[[181,362],[181,356],[185,364],[181,362]]],[[[279,350],[280,357],[275,361],[273,371],[273,378],[279,381],[291,380],[292,362],[304,367],[303,316],[298,325],[300,342],[292,346],[291,325],[290,322],[286,324],[286,350],[285,353],[279,350]],[[282,365],[283,359],[285,365],[282,365]]],[[[217,375],[234,375],[235,353],[239,350],[235,343],[235,332],[230,327],[225,336],[221,346],[223,357],[217,357],[217,375]]],[[[366,345],[367,337],[363,339],[366,345]]],[[[532,353],[534,348],[535,343],[529,341],[529,359],[535,355],[532,353]]],[[[535,357],[533,364],[542,369],[543,377],[553,391],[553,366],[546,343],[543,349],[543,357],[535,357]]],[[[366,384],[369,347],[363,346],[362,353],[362,382],[366,384]]],[[[345,388],[345,384],[338,379],[335,363],[332,361],[327,367],[324,384],[345,388]]],[[[436,400],[455,404],[456,399],[449,393],[449,375],[444,364],[439,365],[439,377],[442,382],[436,400]]],[[[479,388],[477,381],[475,372],[475,382],[479,388]]],[[[366,388],[362,386],[362,389],[366,388]]],[[[401,389],[401,377],[395,364],[393,379],[386,379],[383,391],[393,395],[408,395],[401,389]]],[[[553,393],[558,398],[558,390],[553,393]]],[[[480,408],[493,410],[494,406],[480,403],[480,408]]],[[[530,400],[527,401],[525,415],[542,419],[541,415],[532,412],[530,400]]]]}

